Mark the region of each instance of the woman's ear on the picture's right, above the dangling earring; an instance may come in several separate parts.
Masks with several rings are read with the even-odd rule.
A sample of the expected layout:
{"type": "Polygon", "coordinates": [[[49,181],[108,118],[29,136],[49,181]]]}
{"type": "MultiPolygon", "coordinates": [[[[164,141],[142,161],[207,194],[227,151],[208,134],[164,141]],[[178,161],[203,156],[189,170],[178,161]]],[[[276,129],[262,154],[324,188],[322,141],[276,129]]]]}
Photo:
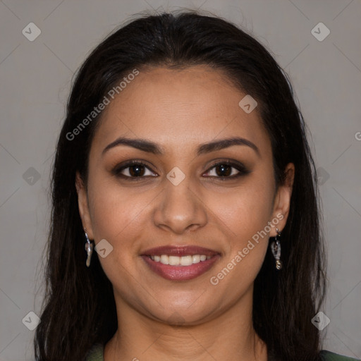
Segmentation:
{"type": "Polygon", "coordinates": [[[285,169],[285,181],[283,185],[279,186],[276,197],[274,198],[274,212],[273,218],[279,219],[279,223],[276,227],[272,227],[269,235],[271,237],[276,236],[276,228],[281,231],[286,226],[288,214],[290,212],[290,197],[293,190],[293,181],[295,178],[295,165],[288,163],[285,169]]]}

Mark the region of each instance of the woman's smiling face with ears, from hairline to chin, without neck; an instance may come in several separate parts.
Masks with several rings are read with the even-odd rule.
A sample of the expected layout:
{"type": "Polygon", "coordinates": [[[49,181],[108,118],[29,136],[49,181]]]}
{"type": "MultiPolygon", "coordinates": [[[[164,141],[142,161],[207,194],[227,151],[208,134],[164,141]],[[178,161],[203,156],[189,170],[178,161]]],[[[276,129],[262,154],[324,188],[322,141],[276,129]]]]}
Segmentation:
{"type": "Polygon", "coordinates": [[[276,189],[269,136],[243,97],[207,66],[148,68],[106,107],[77,189],[87,234],[106,240],[106,257],[92,257],[117,308],[197,324],[252,301],[269,236],[286,224],[293,164],[276,189]]]}

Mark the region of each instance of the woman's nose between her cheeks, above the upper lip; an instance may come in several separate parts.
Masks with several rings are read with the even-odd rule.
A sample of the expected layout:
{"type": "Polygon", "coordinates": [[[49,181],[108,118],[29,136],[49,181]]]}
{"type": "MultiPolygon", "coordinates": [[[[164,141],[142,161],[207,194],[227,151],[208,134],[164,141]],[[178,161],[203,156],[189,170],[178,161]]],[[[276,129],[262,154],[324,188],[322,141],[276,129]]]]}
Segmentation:
{"type": "Polygon", "coordinates": [[[207,224],[207,207],[201,192],[190,188],[188,177],[173,185],[166,181],[154,212],[154,224],[176,234],[195,230],[207,224]]]}

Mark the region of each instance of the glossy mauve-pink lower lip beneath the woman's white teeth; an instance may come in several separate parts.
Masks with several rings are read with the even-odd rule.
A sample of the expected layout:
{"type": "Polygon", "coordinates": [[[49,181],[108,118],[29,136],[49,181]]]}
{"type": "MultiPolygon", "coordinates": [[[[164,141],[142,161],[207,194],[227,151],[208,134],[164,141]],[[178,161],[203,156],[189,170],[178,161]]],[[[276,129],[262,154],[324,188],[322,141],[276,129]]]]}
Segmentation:
{"type": "Polygon", "coordinates": [[[164,279],[171,281],[188,281],[195,279],[207,272],[221,256],[214,255],[213,257],[206,259],[190,266],[169,266],[169,264],[162,264],[161,262],[153,261],[148,256],[142,255],[142,259],[148,264],[150,269],[164,279]]]}

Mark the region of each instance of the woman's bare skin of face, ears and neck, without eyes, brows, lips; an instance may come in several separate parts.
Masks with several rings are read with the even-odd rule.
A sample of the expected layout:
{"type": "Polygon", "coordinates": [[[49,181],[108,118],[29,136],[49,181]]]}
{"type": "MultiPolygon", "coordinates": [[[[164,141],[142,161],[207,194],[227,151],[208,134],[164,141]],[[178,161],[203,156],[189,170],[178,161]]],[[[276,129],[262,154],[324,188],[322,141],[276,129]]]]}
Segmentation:
{"type": "Polygon", "coordinates": [[[271,142],[257,108],[246,114],[238,106],[244,96],[224,73],[207,66],[147,68],[104,110],[90,149],[87,187],[79,175],[76,186],[89,238],[95,244],[105,238],[114,247],[99,257],[114,286],[119,325],[106,344],[105,361],[267,360],[266,345],[252,328],[253,282],[269,236],[286,224],[294,166],[288,164],[286,183],[276,192],[271,142]],[[126,145],[102,155],[120,136],[156,142],[164,155],[126,145]],[[247,145],[195,154],[203,143],[234,136],[253,142],[259,154],[247,145]],[[111,172],[131,159],[149,168],[140,181],[111,172]],[[250,173],[222,180],[214,164],[227,159],[250,173]],[[175,166],[185,174],[178,185],[166,178],[175,166]],[[277,226],[212,285],[210,278],[277,214],[283,216],[277,226]],[[140,257],[161,245],[200,245],[221,257],[196,279],[169,281],[140,257]]]}

